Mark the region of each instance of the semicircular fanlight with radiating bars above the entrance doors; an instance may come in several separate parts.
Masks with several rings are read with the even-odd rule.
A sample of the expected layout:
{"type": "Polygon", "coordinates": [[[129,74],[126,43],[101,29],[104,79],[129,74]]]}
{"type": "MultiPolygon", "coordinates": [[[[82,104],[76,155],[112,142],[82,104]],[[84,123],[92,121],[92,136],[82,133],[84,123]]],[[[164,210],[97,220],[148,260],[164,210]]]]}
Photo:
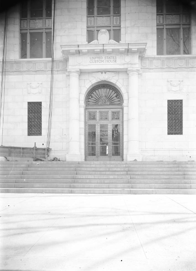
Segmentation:
{"type": "Polygon", "coordinates": [[[88,106],[122,105],[119,91],[112,85],[97,85],[93,87],[86,99],[88,106]]]}

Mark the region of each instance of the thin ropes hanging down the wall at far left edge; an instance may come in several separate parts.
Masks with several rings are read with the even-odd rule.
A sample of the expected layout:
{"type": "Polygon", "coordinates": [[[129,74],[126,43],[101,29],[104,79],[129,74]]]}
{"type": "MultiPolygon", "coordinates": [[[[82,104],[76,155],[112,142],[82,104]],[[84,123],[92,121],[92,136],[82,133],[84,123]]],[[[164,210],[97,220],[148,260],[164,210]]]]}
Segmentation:
{"type": "MultiPolygon", "coordinates": [[[[6,52],[7,52],[7,11],[5,11],[5,24],[4,24],[4,34],[3,34],[3,55],[2,55],[1,82],[0,82],[0,119],[2,115],[1,146],[3,145],[3,122],[4,122],[4,104],[5,104],[5,68],[4,67],[6,67],[6,52]],[[4,82],[3,82],[3,74],[4,74],[4,82]],[[3,103],[3,112],[1,113],[2,103],[3,103]]],[[[1,128],[1,122],[0,122],[0,128],[1,128]]]]}

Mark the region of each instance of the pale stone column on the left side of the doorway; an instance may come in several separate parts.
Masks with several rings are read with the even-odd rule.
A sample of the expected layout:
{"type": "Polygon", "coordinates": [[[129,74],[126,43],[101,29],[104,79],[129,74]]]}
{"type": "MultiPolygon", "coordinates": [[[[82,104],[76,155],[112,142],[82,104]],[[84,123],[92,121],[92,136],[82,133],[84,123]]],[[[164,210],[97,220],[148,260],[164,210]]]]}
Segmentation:
{"type": "Polygon", "coordinates": [[[69,70],[69,152],[66,155],[67,161],[80,161],[79,151],[79,75],[78,70],[69,70]]]}

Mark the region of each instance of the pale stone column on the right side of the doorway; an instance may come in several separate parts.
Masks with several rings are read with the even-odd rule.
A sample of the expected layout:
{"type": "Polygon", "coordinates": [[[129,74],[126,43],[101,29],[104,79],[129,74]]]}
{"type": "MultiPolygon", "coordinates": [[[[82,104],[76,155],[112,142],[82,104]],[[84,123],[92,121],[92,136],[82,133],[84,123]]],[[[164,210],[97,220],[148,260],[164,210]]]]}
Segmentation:
{"type": "Polygon", "coordinates": [[[127,161],[141,161],[139,153],[139,105],[138,105],[138,73],[139,69],[128,69],[129,102],[128,102],[128,152],[127,161]]]}

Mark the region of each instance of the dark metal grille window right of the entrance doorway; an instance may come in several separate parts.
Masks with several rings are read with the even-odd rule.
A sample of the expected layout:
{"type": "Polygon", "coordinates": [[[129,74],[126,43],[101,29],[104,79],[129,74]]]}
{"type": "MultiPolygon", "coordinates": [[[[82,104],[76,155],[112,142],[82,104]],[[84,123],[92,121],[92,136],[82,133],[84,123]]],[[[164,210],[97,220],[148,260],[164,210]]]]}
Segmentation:
{"type": "Polygon", "coordinates": [[[167,101],[167,135],[182,135],[183,133],[183,101],[167,101]]]}

